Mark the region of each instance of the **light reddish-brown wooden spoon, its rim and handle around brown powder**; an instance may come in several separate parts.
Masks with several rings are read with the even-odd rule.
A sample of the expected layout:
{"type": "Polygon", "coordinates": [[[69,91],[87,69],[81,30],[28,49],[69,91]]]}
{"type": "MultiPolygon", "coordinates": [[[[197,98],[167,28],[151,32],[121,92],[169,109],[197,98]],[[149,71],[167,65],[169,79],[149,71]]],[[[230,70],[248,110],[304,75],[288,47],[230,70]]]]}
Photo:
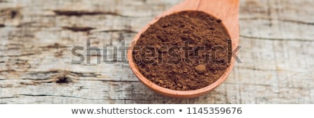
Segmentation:
{"type": "Polygon", "coordinates": [[[143,76],[143,74],[139,71],[139,69],[133,62],[132,53],[133,47],[135,46],[135,43],[139,39],[140,35],[144,33],[144,31],[146,31],[151,24],[156,23],[160,19],[160,17],[165,17],[167,15],[185,10],[202,11],[216,17],[217,19],[221,19],[223,25],[227,29],[227,32],[230,34],[232,40],[232,51],[236,49],[236,47],[239,45],[239,0],[186,0],[182,3],[179,3],[177,6],[174,6],[169,10],[163,12],[161,15],[149,22],[149,24],[147,24],[139,33],[137,33],[137,35],[135,35],[133,43],[128,50],[128,62],[130,68],[134,72],[135,76],[137,76],[137,78],[139,78],[140,81],[144,83],[144,85],[147,85],[147,87],[151,88],[151,90],[154,90],[155,92],[164,94],[166,96],[172,96],[177,98],[193,98],[210,92],[215,87],[223,83],[223,81],[225,81],[227,76],[230,74],[230,71],[232,70],[235,62],[235,59],[232,58],[230,61],[230,66],[225,70],[225,73],[218,79],[218,81],[198,90],[170,90],[165,87],[160,87],[159,85],[156,85],[155,83],[149,81],[149,79],[147,79],[145,76],[143,76]]]}

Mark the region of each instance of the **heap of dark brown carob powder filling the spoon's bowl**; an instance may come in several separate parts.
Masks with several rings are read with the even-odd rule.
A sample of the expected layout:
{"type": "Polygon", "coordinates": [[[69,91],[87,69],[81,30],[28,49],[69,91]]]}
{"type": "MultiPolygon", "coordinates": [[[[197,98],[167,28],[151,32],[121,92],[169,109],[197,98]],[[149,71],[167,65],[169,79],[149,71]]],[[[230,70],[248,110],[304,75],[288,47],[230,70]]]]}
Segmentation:
{"type": "Polygon", "coordinates": [[[197,90],[229,66],[230,35],[220,19],[200,11],[162,17],[140,35],[133,60],[151,82],[171,90],[197,90]]]}

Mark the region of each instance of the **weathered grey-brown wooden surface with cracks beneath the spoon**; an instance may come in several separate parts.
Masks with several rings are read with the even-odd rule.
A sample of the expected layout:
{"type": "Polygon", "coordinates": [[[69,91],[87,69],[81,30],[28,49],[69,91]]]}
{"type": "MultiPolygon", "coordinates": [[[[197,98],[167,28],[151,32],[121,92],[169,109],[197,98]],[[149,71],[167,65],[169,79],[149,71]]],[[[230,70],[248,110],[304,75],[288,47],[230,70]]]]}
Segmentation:
{"type": "Polygon", "coordinates": [[[312,0],[241,0],[243,63],[196,99],[152,92],[125,62],[97,65],[94,55],[91,65],[70,64],[71,49],[86,39],[94,47],[130,44],[179,2],[0,0],[0,103],[314,103],[312,0]]]}

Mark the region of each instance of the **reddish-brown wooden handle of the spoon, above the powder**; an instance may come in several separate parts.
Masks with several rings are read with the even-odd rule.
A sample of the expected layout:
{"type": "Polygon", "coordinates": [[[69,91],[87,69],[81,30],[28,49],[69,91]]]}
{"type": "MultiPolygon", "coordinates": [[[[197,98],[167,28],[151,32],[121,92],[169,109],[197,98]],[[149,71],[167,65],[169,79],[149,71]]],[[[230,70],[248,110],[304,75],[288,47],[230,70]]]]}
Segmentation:
{"type": "Polygon", "coordinates": [[[165,14],[183,10],[202,11],[221,19],[230,33],[232,44],[239,44],[239,0],[186,0],[165,14]]]}

